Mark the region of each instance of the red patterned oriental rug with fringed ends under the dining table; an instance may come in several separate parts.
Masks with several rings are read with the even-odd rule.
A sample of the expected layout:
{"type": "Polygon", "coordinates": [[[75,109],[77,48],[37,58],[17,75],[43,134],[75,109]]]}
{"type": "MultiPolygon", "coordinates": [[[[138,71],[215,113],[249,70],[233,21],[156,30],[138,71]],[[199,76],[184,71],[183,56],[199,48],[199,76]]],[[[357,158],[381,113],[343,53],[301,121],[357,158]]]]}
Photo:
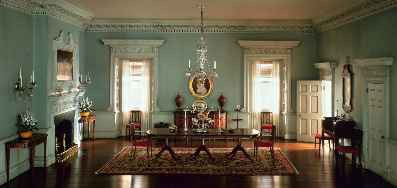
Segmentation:
{"type": "MultiPolygon", "coordinates": [[[[269,148],[260,148],[258,161],[255,161],[254,149],[245,148],[254,162],[239,151],[228,161],[233,148],[208,148],[215,160],[201,151],[195,160],[190,154],[197,148],[173,148],[179,161],[174,160],[168,151],[162,153],[159,159],[153,161],[161,148],[153,148],[153,158],[147,159],[146,148],[137,148],[135,158],[129,160],[131,148],[125,148],[114,159],[99,169],[98,175],[149,175],[149,174],[192,174],[192,175],[298,175],[293,164],[285,157],[279,148],[274,148],[275,161],[270,155],[269,148]]],[[[149,150],[150,152],[150,150],[149,150]]]]}

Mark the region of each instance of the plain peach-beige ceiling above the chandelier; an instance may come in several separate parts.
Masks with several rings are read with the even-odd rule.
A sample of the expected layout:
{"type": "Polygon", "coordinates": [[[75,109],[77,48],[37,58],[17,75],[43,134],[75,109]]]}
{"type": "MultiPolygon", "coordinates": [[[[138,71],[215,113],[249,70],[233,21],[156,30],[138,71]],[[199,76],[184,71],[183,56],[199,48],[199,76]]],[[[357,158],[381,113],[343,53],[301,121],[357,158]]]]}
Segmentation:
{"type": "Polygon", "coordinates": [[[308,21],[349,0],[67,0],[93,19],[308,21]]]}

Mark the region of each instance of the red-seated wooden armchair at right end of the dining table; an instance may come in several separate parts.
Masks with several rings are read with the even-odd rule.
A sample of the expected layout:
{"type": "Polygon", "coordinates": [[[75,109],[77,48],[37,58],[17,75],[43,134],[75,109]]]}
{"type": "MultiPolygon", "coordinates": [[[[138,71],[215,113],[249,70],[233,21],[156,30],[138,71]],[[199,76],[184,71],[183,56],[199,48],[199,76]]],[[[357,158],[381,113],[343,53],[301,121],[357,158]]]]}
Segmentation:
{"type": "Polygon", "coordinates": [[[264,133],[269,133],[269,132],[260,132],[260,136],[257,138],[257,140],[254,140],[254,157],[256,161],[258,161],[258,149],[259,148],[270,148],[270,154],[272,155],[273,161],[274,161],[274,139],[275,139],[275,133],[276,133],[276,125],[272,125],[272,131],[270,132],[270,135],[263,135],[264,133]],[[259,140],[260,138],[260,140],[259,140]]]}

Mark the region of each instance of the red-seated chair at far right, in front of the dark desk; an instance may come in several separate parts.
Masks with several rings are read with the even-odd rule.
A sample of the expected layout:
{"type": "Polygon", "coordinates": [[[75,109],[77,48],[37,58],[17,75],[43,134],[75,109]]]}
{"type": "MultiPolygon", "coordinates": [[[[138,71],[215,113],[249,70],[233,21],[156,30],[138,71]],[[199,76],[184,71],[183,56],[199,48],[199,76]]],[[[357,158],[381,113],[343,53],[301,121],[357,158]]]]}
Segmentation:
{"type": "MultiPolygon", "coordinates": [[[[345,166],[345,154],[351,153],[352,165],[356,163],[355,153],[358,154],[358,161],[361,166],[361,145],[362,145],[362,130],[355,129],[354,136],[351,138],[351,146],[336,146],[336,150],[343,153],[343,166],[345,166]]],[[[339,155],[336,157],[336,163],[338,162],[339,155]]]]}

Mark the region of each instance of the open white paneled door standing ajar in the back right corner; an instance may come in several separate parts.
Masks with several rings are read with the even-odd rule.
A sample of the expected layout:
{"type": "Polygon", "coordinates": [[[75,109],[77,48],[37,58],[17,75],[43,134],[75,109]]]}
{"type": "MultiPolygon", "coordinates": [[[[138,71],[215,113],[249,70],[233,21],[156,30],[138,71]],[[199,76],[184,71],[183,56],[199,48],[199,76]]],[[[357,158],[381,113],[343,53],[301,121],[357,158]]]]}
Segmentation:
{"type": "Polygon", "coordinates": [[[321,83],[297,81],[297,140],[314,142],[314,134],[321,134],[321,83]]]}

